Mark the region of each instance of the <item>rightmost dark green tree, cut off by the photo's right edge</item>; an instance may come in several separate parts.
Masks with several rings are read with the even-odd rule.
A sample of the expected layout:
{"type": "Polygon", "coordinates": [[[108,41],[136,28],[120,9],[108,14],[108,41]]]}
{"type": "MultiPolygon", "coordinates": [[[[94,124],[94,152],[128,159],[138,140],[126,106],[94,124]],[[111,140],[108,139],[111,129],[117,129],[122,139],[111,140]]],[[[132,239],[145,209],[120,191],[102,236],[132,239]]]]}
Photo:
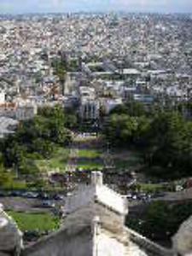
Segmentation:
{"type": "Polygon", "coordinates": [[[189,175],[192,167],[192,125],[180,113],[160,113],[155,117],[148,133],[148,143],[154,165],[170,169],[172,177],[181,173],[189,175]]]}

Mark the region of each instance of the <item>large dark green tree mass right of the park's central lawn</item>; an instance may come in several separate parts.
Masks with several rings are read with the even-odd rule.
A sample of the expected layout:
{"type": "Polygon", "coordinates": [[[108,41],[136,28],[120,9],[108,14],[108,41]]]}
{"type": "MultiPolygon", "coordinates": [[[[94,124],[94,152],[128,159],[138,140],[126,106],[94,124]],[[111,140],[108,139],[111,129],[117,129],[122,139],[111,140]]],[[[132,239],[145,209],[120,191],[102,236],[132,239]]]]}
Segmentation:
{"type": "MultiPolygon", "coordinates": [[[[177,111],[148,114],[140,104],[115,108],[103,125],[103,134],[113,147],[135,147],[149,166],[168,177],[190,176],[192,170],[192,122],[177,111]],[[156,169],[157,170],[157,169],[156,169]]],[[[148,169],[148,170],[149,170],[148,169]]]]}

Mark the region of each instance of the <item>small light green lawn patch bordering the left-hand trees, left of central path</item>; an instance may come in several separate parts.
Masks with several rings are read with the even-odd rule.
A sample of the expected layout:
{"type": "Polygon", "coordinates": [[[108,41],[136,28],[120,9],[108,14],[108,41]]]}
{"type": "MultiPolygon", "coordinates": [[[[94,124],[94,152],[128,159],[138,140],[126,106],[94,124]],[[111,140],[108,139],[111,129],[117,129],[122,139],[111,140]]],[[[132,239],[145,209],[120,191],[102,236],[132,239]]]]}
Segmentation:
{"type": "Polygon", "coordinates": [[[56,148],[55,153],[49,160],[36,160],[38,168],[42,171],[65,170],[70,150],[67,148],[56,148]]]}

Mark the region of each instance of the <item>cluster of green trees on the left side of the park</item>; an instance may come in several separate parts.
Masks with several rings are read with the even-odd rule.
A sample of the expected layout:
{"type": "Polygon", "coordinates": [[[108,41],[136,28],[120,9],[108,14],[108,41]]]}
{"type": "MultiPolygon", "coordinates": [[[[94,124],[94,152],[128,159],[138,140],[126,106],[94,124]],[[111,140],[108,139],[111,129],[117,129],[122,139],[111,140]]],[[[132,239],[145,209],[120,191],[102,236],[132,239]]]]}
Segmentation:
{"type": "Polygon", "coordinates": [[[21,175],[38,177],[33,160],[49,159],[55,147],[70,143],[71,132],[66,122],[67,116],[60,106],[39,109],[34,119],[21,122],[15,135],[1,141],[3,166],[21,175]]]}

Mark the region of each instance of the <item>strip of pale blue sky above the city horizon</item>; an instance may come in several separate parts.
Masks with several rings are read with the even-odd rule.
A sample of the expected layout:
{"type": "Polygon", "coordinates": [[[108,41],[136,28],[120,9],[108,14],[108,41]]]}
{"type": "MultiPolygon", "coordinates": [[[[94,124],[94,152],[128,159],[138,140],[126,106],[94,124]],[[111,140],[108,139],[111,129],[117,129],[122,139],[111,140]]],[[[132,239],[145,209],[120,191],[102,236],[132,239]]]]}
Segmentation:
{"type": "Polygon", "coordinates": [[[1,14],[79,11],[192,13],[192,0],[0,0],[1,14]]]}

